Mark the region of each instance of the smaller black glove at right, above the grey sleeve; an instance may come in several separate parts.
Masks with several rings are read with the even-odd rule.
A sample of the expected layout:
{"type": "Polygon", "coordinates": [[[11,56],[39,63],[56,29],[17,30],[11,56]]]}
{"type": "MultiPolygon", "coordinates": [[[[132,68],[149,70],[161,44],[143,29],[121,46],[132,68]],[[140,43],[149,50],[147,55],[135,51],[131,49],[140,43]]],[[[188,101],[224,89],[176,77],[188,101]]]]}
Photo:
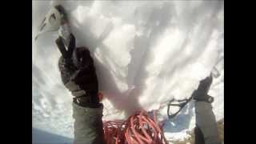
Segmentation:
{"type": "Polygon", "coordinates": [[[198,90],[194,90],[192,97],[196,101],[204,101],[204,102],[214,102],[214,98],[208,95],[208,91],[210,90],[210,85],[213,82],[213,77],[210,75],[206,77],[202,81],[200,81],[198,90]]]}

